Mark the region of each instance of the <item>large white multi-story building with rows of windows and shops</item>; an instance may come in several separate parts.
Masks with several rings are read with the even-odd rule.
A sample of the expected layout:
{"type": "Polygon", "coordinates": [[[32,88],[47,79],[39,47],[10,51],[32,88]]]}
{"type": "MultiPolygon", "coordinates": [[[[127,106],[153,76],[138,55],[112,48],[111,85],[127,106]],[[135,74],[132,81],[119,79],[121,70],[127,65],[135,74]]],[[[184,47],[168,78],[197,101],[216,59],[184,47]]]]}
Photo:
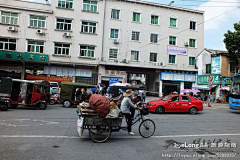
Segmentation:
{"type": "Polygon", "coordinates": [[[3,0],[0,13],[1,76],[96,84],[145,74],[146,88],[160,93],[196,81],[202,11],[139,0],[3,0]],[[13,67],[18,73],[7,72],[13,67]]]}

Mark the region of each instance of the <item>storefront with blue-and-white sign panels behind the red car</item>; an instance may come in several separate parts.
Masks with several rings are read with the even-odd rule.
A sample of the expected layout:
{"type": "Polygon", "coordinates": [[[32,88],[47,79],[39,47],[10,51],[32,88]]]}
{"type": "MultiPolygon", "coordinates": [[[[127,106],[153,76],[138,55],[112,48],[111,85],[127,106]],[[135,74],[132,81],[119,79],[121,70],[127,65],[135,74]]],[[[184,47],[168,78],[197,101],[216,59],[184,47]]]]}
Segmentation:
{"type": "MultiPolygon", "coordinates": [[[[190,89],[192,84],[196,82],[196,74],[185,72],[161,72],[159,92],[170,94],[172,92],[180,93],[183,89],[190,89]]],[[[160,95],[161,96],[161,95],[160,95]]]]}

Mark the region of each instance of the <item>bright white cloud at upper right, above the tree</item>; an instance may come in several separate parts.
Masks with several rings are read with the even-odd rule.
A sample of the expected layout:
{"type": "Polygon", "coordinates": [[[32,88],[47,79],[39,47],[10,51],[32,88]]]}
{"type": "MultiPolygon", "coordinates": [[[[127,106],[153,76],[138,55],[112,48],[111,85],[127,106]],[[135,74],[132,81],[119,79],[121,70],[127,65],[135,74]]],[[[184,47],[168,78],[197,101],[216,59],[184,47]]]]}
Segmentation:
{"type": "MultiPolygon", "coordinates": [[[[209,20],[213,17],[216,17],[220,14],[223,14],[225,12],[228,12],[234,8],[237,8],[239,6],[239,0],[231,0],[231,2],[236,2],[236,3],[221,3],[222,2],[227,2],[226,0],[209,0],[208,2],[202,3],[197,9],[205,11],[205,21],[209,20]],[[204,6],[222,6],[222,7],[204,7],[204,6]],[[227,7],[231,6],[231,7],[227,7]]],[[[224,25],[225,23],[228,23],[229,19],[232,18],[238,18],[240,16],[240,9],[237,8],[234,11],[231,11],[229,13],[226,13],[220,17],[217,17],[209,22],[206,22],[204,27],[205,30],[215,30],[219,29],[224,25]]]]}

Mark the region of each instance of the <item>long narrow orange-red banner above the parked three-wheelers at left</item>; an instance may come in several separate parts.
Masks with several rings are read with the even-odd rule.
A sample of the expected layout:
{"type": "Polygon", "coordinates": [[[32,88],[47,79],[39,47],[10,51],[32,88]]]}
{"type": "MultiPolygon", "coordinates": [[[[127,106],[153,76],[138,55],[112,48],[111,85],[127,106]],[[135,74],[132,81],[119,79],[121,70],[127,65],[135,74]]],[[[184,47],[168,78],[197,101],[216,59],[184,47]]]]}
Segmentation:
{"type": "Polygon", "coordinates": [[[47,77],[39,75],[26,75],[26,79],[29,80],[45,80],[45,81],[55,81],[55,82],[71,82],[71,78],[62,78],[62,77],[47,77]]]}

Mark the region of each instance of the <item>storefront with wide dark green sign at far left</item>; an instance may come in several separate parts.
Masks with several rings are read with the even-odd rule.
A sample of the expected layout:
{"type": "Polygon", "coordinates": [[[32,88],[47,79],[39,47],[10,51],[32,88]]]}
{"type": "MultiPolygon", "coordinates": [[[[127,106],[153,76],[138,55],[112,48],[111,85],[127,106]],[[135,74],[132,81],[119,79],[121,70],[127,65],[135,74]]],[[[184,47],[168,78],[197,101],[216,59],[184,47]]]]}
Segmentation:
{"type": "Polygon", "coordinates": [[[0,51],[0,76],[25,79],[26,73],[40,74],[49,57],[46,54],[0,51]]]}

